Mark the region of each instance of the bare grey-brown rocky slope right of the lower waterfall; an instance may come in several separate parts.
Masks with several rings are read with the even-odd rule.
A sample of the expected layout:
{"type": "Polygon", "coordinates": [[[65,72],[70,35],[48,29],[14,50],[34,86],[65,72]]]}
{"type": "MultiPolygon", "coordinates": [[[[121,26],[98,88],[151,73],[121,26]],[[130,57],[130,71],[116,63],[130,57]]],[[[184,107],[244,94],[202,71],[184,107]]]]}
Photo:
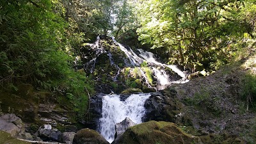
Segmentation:
{"type": "Polygon", "coordinates": [[[256,115],[250,103],[246,111],[248,106],[243,93],[246,91],[244,77],[250,74],[250,81],[253,81],[255,70],[244,69],[244,63],[246,61],[239,61],[210,76],[198,77],[184,84],[173,84],[152,94],[145,102],[147,114],[144,120],[174,122],[191,134],[205,135],[204,141],[220,138],[216,143],[223,143],[229,138],[240,138],[254,143],[256,115]]]}

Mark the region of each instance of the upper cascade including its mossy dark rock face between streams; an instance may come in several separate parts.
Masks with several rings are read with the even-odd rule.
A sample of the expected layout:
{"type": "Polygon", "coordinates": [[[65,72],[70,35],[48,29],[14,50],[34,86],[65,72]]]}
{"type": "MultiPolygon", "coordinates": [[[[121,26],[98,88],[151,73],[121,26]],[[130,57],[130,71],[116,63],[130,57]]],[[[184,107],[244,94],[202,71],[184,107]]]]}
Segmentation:
{"type": "Polygon", "coordinates": [[[156,54],[152,52],[125,47],[113,37],[100,35],[94,44],[86,46],[81,58],[84,70],[98,76],[99,81],[104,78],[129,83],[127,77],[132,77],[134,80],[138,79],[136,84],[131,84],[133,87],[142,84],[142,87],[158,90],[168,84],[188,82],[186,74],[175,65],[157,61],[156,54]]]}

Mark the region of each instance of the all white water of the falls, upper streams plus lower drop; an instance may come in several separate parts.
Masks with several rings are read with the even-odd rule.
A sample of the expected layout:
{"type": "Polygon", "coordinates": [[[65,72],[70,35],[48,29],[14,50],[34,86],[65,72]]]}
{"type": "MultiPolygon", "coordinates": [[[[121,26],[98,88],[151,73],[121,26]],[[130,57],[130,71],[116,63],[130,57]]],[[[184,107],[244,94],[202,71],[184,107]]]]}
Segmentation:
{"type": "MultiPolygon", "coordinates": [[[[115,76],[111,76],[112,80],[115,82],[120,82],[118,81],[118,76],[122,75],[121,72],[124,72],[125,67],[130,67],[130,69],[134,71],[136,68],[139,76],[137,79],[141,79],[143,84],[145,84],[144,86],[155,88],[156,90],[160,90],[168,84],[188,82],[184,72],[179,70],[175,65],[167,65],[157,61],[156,55],[152,52],[144,51],[143,49],[132,50],[116,42],[115,38],[112,38],[112,40],[111,38],[109,39],[108,44],[114,45],[114,50],[105,49],[104,44],[100,41],[100,36],[97,37],[97,41],[94,44],[90,44],[91,49],[95,51],[95,55],[89,56],[92,57],[92,59],[84,64],[84,69],[90,70],[92,73],[93,70],[95,70],[97,58],[101,54],[106,54],[111,67],[115,67],[115,70],[113,70],[115,76]],[[116,55],[114,54],[119,50],[122,51],[119,52],[121,58],[115,60],[116,55]],[[120,65],[120,63],[124,65],[120,65]],[[175,77],[178,78],[175,79],[178,80],[173,80],[168,75],[168,72],[176,73],[177,75],[175,77]],[[154,81],[154,83],[152,81],[154,81]]],[[[122,122],[126,117],[129,117],[132,122],[140,124],[142,117],[145,115],[144,104],[148,97],[150,97],[150,93],[132,94],[125,100],[120,100],[121,96],[116,94],[104,95],[102,97],[102,118],[99,119],[100,124],[98,130],[100,134],[111,143],[115,139],[115,124],[122,122]]]]}

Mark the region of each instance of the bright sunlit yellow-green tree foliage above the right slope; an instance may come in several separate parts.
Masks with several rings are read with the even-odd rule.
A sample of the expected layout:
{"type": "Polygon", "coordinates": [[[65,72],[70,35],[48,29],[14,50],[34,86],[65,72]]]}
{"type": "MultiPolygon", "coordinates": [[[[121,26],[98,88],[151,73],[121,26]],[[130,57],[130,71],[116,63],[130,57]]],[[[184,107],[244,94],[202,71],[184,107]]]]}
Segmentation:
{"type": "MultiPolygon", "coordinates": [[[[141,44],[192,71],[230,61],[232,45],[255,35],[255,1],[143,1],[138,4],[141,44]]],[[[239,43],[238,43],[239,44],[239,43]]],[[[243,44],[243,42],[240,42],[243,44]]],[[[241,45],[245,47],[245,45],[241,45]]]]}

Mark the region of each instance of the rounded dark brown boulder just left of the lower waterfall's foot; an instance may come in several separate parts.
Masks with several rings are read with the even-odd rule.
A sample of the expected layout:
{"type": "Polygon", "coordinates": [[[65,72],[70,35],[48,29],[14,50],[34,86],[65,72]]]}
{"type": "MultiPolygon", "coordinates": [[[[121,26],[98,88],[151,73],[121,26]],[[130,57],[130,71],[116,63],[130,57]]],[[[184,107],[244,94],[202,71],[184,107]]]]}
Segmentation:
{"type": "Polygon", "coordinates": [[[97,131],[92,129],[81,129],[77,131],[73,144],[109,144],[97,131]]]}

